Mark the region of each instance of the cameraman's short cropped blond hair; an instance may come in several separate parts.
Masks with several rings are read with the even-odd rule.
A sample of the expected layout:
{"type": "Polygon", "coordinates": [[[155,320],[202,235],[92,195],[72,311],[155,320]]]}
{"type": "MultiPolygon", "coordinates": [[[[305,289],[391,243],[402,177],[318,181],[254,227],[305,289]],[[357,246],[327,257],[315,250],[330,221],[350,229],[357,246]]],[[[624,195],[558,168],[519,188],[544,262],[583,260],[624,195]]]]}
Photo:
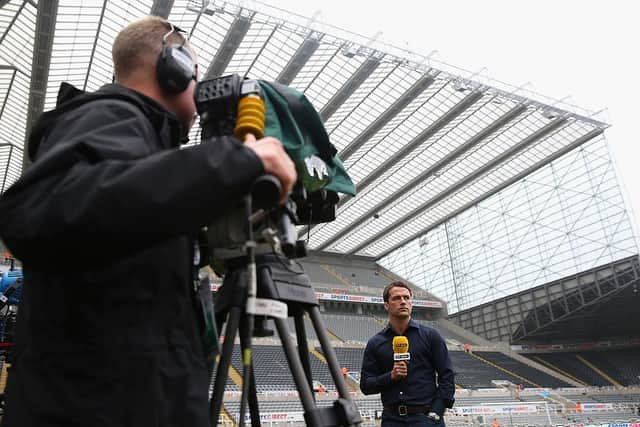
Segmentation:
{"type": "MultiPolygon", "coordinates": [[[[154,70],[155,75],[156,63],[162,52],[162,38],[170,29],[169,22],[158,16],[147,16],[124,27],[111,49],[116,81],[126,81],[139,68],[154,70]]],[[[195,60],[193,49],[181,33],[171,33],[167,43],[184,43],[195,60]]]]}

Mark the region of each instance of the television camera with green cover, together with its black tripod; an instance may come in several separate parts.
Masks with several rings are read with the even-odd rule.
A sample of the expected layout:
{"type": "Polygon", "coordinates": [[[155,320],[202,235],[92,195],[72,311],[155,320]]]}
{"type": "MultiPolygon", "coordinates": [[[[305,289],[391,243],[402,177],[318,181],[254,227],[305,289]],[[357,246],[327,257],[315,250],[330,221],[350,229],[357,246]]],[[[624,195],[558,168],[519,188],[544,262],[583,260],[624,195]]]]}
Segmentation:
{"type": "Polygon", "coordinates": [[[217,329],[226,323],[211,397],[212,422],[220,415],[239,332],[243,355],[239,425],[244,425],[247,402],[252,425],[260,425],[251,338],[272,335],[265,325],[266,319],[273,319],[307,425],[359,425],[360,414],[322,324],[315,292],[309,277],[294,261],[307,254],[305,242],[297,240],[296,225],[333,221],[337,193],[355,194],[319,115],[304,95],[291,88],[238,75],[199,82],[195,99],[202,143],[232,135],[242,141],[249,133],[257,139],[274,136],[283,143],[298,173],[285,204],[276,202],[282,191],[279,181],[265,175],[237,207],[207,227],[209,261],[216,272],[224,272],[215,304],[217,329]],[[338,391],[339,398],[331,407],[315,404],[305,314],[312,321],[338,391]],[[289,333],[288,317],[293,317],[297,343],[289,333]]]}

